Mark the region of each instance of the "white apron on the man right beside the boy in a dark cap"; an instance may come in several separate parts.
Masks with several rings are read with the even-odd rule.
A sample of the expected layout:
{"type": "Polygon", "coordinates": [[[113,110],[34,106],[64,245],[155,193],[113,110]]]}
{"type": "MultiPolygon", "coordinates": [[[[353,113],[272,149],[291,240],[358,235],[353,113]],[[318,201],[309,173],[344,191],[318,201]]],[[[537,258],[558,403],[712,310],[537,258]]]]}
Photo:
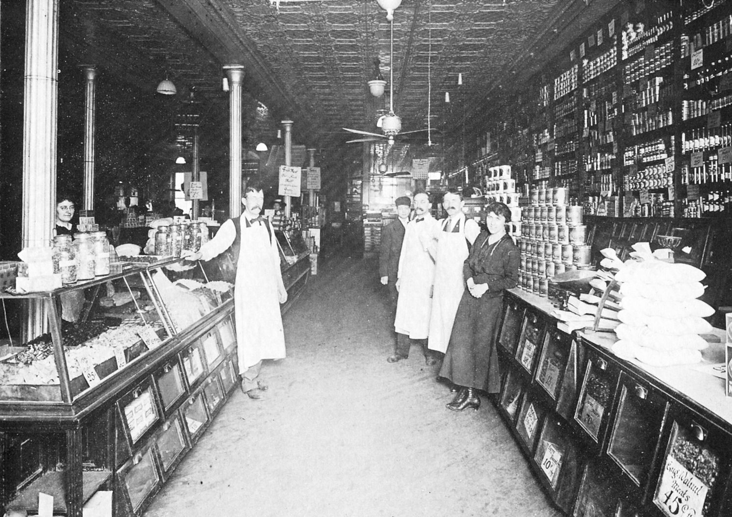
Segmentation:
{"type": "Polygon", "coordinates": [[[399,298],[394,330],[412,339],[426,339],[430,330],[435,263],[422,240],[428,242],[433,239],[438,229],[434,217],[425,217],[420,223],[410,221],[404,233],[399,257],[399,298]]]}

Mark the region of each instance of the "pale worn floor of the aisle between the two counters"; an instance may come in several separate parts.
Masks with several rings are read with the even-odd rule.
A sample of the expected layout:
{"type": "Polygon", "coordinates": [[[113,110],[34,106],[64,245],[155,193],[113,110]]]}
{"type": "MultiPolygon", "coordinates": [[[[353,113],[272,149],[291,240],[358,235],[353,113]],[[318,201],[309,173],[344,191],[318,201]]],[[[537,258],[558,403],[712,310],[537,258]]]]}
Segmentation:
{"type": "Polygon", "coordinates": [[[489,401],[452,395],[393,327],[376,260],[332,257],[285,315],[266,401],[238,391],[148,508],[162,516],[556,517],[489,401]]]}

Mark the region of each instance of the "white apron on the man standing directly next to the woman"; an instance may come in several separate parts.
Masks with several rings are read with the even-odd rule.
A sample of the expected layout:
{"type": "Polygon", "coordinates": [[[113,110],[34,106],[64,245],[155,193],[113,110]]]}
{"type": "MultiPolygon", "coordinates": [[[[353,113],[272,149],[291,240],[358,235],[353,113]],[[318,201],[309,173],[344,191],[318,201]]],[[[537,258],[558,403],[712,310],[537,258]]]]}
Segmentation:
{"type": "Polygon", "coordinates": [[[465,291],[463,262],[468,258],[468,243],[465,237],[465,220],[458,220],[458,231],[444,231],[449,223],[445,219],[437,241],[435,266],[435,289],[433,291],[430,316],[430,339],[427,347],[438,352],[447,351],[455,313],[465,291]]]}

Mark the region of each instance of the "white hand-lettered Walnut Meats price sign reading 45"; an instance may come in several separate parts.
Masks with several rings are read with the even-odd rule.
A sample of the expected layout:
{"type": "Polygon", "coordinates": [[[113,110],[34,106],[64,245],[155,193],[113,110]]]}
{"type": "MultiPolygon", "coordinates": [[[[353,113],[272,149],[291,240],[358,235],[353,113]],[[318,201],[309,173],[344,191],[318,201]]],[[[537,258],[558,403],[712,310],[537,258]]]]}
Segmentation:
{"type": "Polygon", "coordinates": [[[668,517],[695,517],[702,515],[708,491],[702,480],[669,455],[655,499],[668,517]]]}

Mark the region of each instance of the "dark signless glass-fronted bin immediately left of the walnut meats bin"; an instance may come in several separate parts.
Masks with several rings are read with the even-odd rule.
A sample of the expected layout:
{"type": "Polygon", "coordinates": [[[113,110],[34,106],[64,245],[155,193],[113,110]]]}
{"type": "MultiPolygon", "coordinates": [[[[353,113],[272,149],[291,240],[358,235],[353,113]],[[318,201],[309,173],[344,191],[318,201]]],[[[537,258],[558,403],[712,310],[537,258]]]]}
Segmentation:
{"type": "Polygon", "coordinates": [[[623,372],[608,455],[636,486],[644,486],[653,463],[668,404],[648,384],[623,372]]]}

